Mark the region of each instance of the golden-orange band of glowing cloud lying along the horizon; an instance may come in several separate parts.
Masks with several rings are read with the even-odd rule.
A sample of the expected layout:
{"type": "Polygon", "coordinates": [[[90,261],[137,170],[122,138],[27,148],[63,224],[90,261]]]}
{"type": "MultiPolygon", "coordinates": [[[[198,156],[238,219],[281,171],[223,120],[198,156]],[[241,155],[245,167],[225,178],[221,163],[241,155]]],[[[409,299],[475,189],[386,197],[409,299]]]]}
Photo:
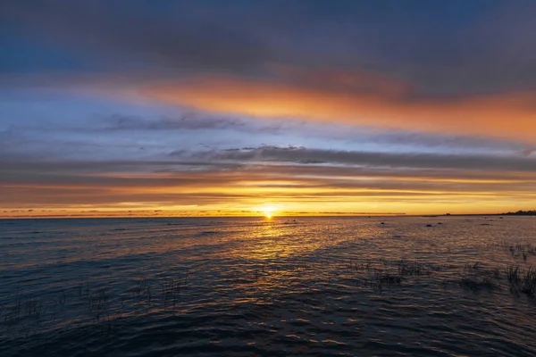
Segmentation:
{"type": "Polygon", "coordinates": [[[154,172],[145,179],[135,172],[112,177],[70,172],[63,178],[44,174],[36,181],[21,173],[17,181],[0,182],[0,217],[103,212],[123,216],[247,215],[265,204],[280,207],[281,213],[309,214],[491,213],[534,208],[536,179],[532,172],[486,171],[481,175],[482,170],[398,172],[275,164],[235,171],[154,172]],[[69,180],[72,175],[76,179],[69,180]]]}

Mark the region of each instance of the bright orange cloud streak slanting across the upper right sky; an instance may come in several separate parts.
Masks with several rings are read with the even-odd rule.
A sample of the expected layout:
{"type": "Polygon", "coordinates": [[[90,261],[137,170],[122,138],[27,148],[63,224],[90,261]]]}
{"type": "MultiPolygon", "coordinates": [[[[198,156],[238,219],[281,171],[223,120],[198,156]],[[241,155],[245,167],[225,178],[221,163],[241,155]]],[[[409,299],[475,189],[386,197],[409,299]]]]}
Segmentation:
{"type": "Polygon", "coordinates": [[[431,98],[373,75],[319,72],[277,80],[198,77],[146,86],[141,94],[212,112],[514,138],[536,142],[536,94],[431,98]]]}

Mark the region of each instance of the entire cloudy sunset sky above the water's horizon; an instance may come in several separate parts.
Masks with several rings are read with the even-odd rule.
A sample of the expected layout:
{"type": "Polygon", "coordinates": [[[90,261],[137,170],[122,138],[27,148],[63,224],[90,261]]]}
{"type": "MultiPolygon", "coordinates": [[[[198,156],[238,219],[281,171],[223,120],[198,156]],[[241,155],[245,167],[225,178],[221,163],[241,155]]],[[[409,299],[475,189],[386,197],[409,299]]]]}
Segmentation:
{"type": "Polygon", "coordinates": [[[536,209],[536,2],[0,2],[0,217],[536,209]]]}

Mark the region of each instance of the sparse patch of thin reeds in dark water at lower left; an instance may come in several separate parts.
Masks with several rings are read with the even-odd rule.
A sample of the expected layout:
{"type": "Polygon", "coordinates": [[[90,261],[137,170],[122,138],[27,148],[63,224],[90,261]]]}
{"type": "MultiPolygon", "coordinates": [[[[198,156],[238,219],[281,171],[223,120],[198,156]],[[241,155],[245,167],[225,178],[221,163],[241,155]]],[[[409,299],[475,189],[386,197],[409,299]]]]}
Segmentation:
{"type": "Polygon", "coordinates": [[[19,284],[15,294],[0,297],[0,335],[31,337],[43,331],[66,332],[90,326],[101,326],[110,334],[120,327],[116,321],[125,312],[143,315],[153,309],[156,300],[163,303],[157,309],[174,307],[188,281],[188,270],[166,278],[136,278],[127,286],[80,277],[72,288],[45,295],[26,295],[19,284]],[[155,289],[158,284],[161,296],[155,289]]]}

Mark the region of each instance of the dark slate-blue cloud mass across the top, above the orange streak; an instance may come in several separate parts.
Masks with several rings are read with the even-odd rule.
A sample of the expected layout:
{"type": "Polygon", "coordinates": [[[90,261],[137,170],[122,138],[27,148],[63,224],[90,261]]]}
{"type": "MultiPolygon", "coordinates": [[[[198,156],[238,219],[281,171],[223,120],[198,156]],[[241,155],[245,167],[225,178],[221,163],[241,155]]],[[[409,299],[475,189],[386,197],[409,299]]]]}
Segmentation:
{"type": "MultiPolygon", "coordinates": [[[[94,71],[159,79],[232,73],[310,87],[289,68],[385,74],[417,97],[534,89],[530,1],[4,1],[12,37],[78,54],[94,71]]],[[[65,65],[65,68],[72,66],[65,65]]],[[[84,68],[87,67],[85,64],[84,68]]],[[[377,91],[384,87],[353,88],[377,91]]],[[[346,87],[348,90],[348,87],[346,87]]]]}

